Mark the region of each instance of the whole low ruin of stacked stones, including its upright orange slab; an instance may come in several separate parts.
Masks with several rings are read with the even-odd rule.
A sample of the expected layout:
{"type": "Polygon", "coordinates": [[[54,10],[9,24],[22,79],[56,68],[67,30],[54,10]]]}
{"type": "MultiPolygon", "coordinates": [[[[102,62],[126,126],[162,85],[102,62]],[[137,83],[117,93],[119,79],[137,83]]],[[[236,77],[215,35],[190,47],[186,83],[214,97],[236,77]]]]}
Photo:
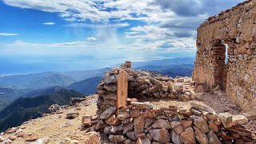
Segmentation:
{"type": "MultiPolygon", "coordinates": [[[[166,83],[174,84],[169,78],[142,76],[130,66],[131,63],[126,62],[106,73],[98,85],[97,115],[82,118],[82,127],[101,132],[106,136],[106,143],[254,143],[255,135],[242,126],[248,122],[242,115],[216,114],[210,107],[195,102],[190,102],[190,108],[154,108],[150,102],[138,102],[139,96],[164,98],[172,94],[171,90],[177,89],[169,89],[166,83]],[[138,88],[130,87],[130,82],[138,82],[138,88]],[[141,89],[141,86],[145,88],[141,89]],[[150,88],[154,86],[168,94],[161,94],[160,91],[159,95],[152,94],[150,88]],[[142,93],[146,89],[149,91],[142,93]],[[138,94],[137,98],[135,94],[138,94]]],[[[182,91],[177,93],[182,95],[182,91]]]]}

